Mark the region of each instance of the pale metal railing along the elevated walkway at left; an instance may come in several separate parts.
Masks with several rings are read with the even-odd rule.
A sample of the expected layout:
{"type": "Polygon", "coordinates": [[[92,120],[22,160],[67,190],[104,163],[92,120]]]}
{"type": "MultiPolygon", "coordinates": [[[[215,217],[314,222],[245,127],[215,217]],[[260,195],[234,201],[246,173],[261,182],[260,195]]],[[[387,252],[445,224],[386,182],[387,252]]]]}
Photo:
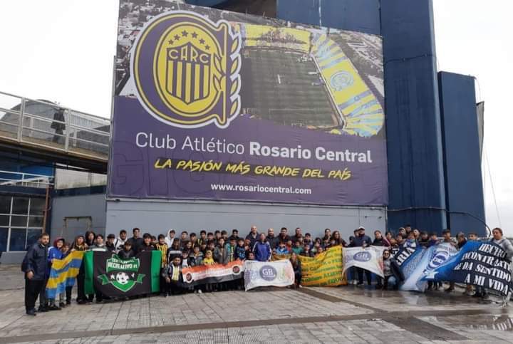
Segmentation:
{"type": "Polygon", "coordinates": [[[108,160],[110,120],[0,91],[0,138],[108,160]]]}

